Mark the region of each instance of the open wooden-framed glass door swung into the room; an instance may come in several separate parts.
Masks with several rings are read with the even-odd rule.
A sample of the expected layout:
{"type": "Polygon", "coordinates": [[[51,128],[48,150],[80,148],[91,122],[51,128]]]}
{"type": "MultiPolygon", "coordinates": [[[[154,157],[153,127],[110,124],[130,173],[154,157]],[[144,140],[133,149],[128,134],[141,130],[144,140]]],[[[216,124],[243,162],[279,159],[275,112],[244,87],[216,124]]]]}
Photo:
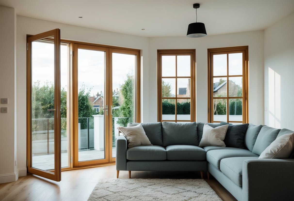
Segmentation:
{"type": "Polygon", "coordinates": [[[28,172],[60,181],[60,30],[28,37],[27,51],[28,172]]]}

